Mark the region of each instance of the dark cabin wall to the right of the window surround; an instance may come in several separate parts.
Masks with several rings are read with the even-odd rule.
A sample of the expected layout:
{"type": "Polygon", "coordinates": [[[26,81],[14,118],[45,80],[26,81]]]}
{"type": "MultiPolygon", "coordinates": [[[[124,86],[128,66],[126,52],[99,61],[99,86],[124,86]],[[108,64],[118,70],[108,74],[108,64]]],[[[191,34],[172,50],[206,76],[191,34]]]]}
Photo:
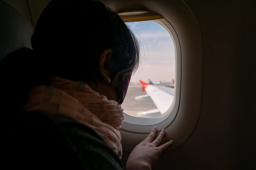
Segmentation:
{"type": "Polygon", "coordinates": [[[155,170],[254,170],[256,2],[185,2],[198,19],[203,39],[201,115],[191,138],[165,153],[155,170]]]}

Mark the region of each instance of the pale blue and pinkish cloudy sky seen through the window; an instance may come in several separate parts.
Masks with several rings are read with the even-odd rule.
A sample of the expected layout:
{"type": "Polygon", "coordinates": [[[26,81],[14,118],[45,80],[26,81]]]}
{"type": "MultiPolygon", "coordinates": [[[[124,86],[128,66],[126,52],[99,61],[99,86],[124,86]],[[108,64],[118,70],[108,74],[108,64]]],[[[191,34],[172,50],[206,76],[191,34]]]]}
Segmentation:
{"type": "Polygon", "coordinates": [[[174,43],[171,35],[154,21],[126,23],[136,35],[140,44],[141,63],[131,77],[131,83],[138,80],[148,82],[172,82],[175,70],[174,43]]]}

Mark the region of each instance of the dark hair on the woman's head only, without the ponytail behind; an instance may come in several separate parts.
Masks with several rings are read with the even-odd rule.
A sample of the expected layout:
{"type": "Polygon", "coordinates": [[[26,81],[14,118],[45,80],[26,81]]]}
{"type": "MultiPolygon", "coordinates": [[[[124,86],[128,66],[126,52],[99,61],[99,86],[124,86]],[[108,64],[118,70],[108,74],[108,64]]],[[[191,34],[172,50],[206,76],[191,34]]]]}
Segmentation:
{"type": "Polygon", "coordinates": [[[99,57],[106,49],[113,51],[110,79],[121,79],[138,67],[135,36],[100,1],[53,0],[39,18],[31,42],[52,69],[52,76],[93,81],[100,76],[99,57]]]}

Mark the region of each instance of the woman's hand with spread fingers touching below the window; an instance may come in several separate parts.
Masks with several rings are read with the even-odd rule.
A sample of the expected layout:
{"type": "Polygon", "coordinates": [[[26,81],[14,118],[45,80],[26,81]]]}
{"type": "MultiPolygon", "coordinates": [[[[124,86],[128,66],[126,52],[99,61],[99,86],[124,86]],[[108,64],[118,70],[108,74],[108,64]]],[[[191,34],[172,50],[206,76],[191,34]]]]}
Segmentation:
{"type": "Polygon", "coordinates": [[[165,135],[165,129],[155,138],[156,131],[157,128],[154,127],[151,133],[133,149],[127,160],[126,170],[151,170],[159,156],[173,144],[171,140],[159,146],[165,135]]]}

